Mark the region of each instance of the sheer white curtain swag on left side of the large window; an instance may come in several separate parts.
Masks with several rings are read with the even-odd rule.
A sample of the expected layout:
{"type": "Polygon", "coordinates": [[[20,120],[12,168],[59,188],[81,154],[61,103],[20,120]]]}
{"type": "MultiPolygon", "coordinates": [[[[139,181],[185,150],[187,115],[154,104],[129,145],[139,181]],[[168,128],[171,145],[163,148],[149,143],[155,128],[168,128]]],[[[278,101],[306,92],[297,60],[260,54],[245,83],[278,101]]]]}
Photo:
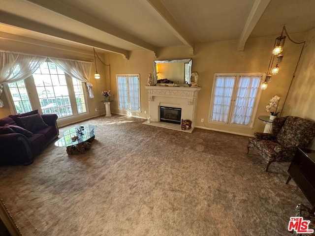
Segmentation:
{"type": "MultiPolygon", "coordinates": [[[[47,58],[24,55],[11,52],[0,52],[0,84],[13,83],[25,80],[44,62],[47,58]]],[[[0,86],[0,95],[2,86],[0,86]]],[[[0,99],[0,108],[3,102],[0,99]]]]}

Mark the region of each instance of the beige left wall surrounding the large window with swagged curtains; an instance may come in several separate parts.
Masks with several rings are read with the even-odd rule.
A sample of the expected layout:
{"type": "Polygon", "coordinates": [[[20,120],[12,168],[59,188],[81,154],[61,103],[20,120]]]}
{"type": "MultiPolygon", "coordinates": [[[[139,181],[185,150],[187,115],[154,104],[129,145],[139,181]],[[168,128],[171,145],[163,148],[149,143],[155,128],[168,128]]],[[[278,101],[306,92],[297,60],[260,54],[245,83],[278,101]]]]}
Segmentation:
{"type": "MultiPolygon", "coordinates": [[[[65,47],[62,45],[56,45],[56,44],[50,44],[50,43],[47,43],[46,46],[40,46],[37,44],[22,43],[22,42],[16,42],[16,41],[4,40],[4,39],[0,39],[0,45],[1,45],[0,49],[6,50],[6,51],[21,52],[21,53],[27,53],[27,54],[33,54],[33,55],[39,55],[39,56],[54,57],[54,58],[94,61],[93,48],[91,48],[91,51],[85,51],[85,50],[80,50],[77,48],[70,48],[70,47],[65,47]]],[[[99,56],[102,59],[104,59],[104,54],[99,54],[99,56]]],[[[87,118],[99,116],[100,114],[105,113],[104,104],[101,103],[100,101],[103,99],[103,96],[101,95],[101,91],[104,90],[104,88],[106,87],[106,84],[109,82],[109,80],[106,80],[106,76],[107,76],[107,79],[109,78],[108,77],[109,70],[106,66],[103,66],[103,64],[98,59],[96,59],[96,61],[97,61],[97,70],[98,70],[98,73],[101,75],[101,78],[99,80],[95,80],[94,78],[95,65],[93,64],[92,70],[91,70],[90,82],[93,84],[93,91],[94,91],[95,98],[91,99],[87,97],[88,109],[89,109],[88,114],[77,116],[72,119],[65,119],[63,121],[58,121],[58,124],[60,126],[63,126],[68,123],[73,123],[79,120],[84,120],[87,118]],[[96,112],[95,108],[100,109],[100,110],[96,112]]],[[[84,86],[84,89],[87,91],[86,86],[84,86]]],[[[6,98],[7,92],[9,91],[4,90],[0,96],[1,100],[4,103],[4,108],[0,109],[0,118],[13,114],[13,111],[11,111],[9,108],[9,103],[6,98]]],[[[37,108],[33,108],[33,109],[37,109],[37,108]]]]}

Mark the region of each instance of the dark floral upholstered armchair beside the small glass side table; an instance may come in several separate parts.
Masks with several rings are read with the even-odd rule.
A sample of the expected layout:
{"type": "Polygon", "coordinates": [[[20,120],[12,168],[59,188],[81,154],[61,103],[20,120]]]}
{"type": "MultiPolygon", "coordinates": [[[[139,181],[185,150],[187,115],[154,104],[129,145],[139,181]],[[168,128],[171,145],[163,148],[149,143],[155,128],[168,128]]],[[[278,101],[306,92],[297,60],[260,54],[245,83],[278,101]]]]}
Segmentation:
{"type": "Polygon", "coordinates": [[[276,118],[272,133],[254,133],[249,138],[247,153],[252,147],[267,160],[265,171],[272,162],[291,162],[297,148],[306,148],[315,137],[315,122],[300,117],[276,118]]]}

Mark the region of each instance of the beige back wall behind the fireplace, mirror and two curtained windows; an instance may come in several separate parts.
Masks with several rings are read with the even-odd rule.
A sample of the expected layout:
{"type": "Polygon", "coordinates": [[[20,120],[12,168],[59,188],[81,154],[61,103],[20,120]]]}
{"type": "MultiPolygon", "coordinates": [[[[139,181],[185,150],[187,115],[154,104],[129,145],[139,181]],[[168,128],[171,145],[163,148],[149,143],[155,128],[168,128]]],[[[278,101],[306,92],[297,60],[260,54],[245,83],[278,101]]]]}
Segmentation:
{"type": "MultiPolygon", "coordinates": [[[[303,40],[305,34],[295,34],[294,37],[303,40]]],[[[283,98],[287,93],[290,83],[288,78],[292,77],[294,72],[293,65],[296,64],[299,55],[299,47],[289,41],[285,43],[284,60],[280,64],[279,75],[273,76],[268,89],[263,90],[261,93],[257,115],[254,119],[252,129],[214,125],[207,122],[202,123],[201,118],[206,121],[209,116],[214,74],[224,72],[267,72],[275,38],[276,36],[249,39],[244,52],[238,52],[236,50],[237,41],[197,44],[193,57],[189,56],[189,50],[185,46],[163,48],[158,52],[157,58],[154,57],[152,53],[144,50],[133,52],[129,60],[123,59],[116,54],[110,54],[112,89],[115,95],[117,95],[116,74],[139,73],[142,112],[132,113],[132,115],[147,117],[148,113],[144,114],[144,111],[148,112],[148,95],[144,86],[146,86],[148,74],[153,73],[153,61],[157,59],[192,58],[192,71],[198,71],[198,82],[199,87],[201,87],[197,102],[195,126],[252,136],[255,131],[263,131],[264,124],[258,117],[269,115],[269,113],[265,111],[265,106],[268,105],[271,97],[274,95],[280,96],[282,98],[280,107],[282,108],[283,98]]],[[[112,103],[112,111],[118,114],[126,114],[118,110],[116,101],[112,103]]]]}

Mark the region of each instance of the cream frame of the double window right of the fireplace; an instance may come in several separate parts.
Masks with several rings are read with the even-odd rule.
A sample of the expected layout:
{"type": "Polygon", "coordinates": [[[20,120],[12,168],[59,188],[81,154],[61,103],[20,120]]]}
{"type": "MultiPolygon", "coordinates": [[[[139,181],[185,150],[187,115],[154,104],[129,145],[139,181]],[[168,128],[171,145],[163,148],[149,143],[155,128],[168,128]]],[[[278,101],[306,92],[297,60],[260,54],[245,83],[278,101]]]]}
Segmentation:
{"type": "Polygon", "coordinates": [[[223,125],[223,126],[228,126],[228,127],[236,127],[236,128],[245,128],[245,129],[252,129],[253,128],[254,118],[256,117],[256,114],[257,114],[258,104],[259,104],[259,100],[260,100],[260,96],[261,96],[260,86],[258,86],[258,91],[257,91],[257,94],[255,96],[255,101],[254,101],[254,105],[252,108],[252,116],[251,116],[250,123],[248,125],[231,123],[233,111],[235,109],[235,100],[236,100],[236,96],[237,96],[237,91],[239,89],[239,81],[240,81],[241,76],[260,77],[259,85],[262,83],[262,81],[264,81],[266,79],[266,73],[263,73],[263,72],[257,72],[257,73],[215,73],[214,79],[213,79],[213,84],[212,84],[212,91],[211,91],[211,100],[210,100],[209,114],[208,114],[208,120],[207,120],[208,123],[223,125]],[[214,108],[217,76],[235,76],[236,77],[233,92],[232,92],[232,102],[231,102],[230,107],[229,107],[228,118],[227,118],[226,122],[211,120],[213,108],[214,108]]]}

